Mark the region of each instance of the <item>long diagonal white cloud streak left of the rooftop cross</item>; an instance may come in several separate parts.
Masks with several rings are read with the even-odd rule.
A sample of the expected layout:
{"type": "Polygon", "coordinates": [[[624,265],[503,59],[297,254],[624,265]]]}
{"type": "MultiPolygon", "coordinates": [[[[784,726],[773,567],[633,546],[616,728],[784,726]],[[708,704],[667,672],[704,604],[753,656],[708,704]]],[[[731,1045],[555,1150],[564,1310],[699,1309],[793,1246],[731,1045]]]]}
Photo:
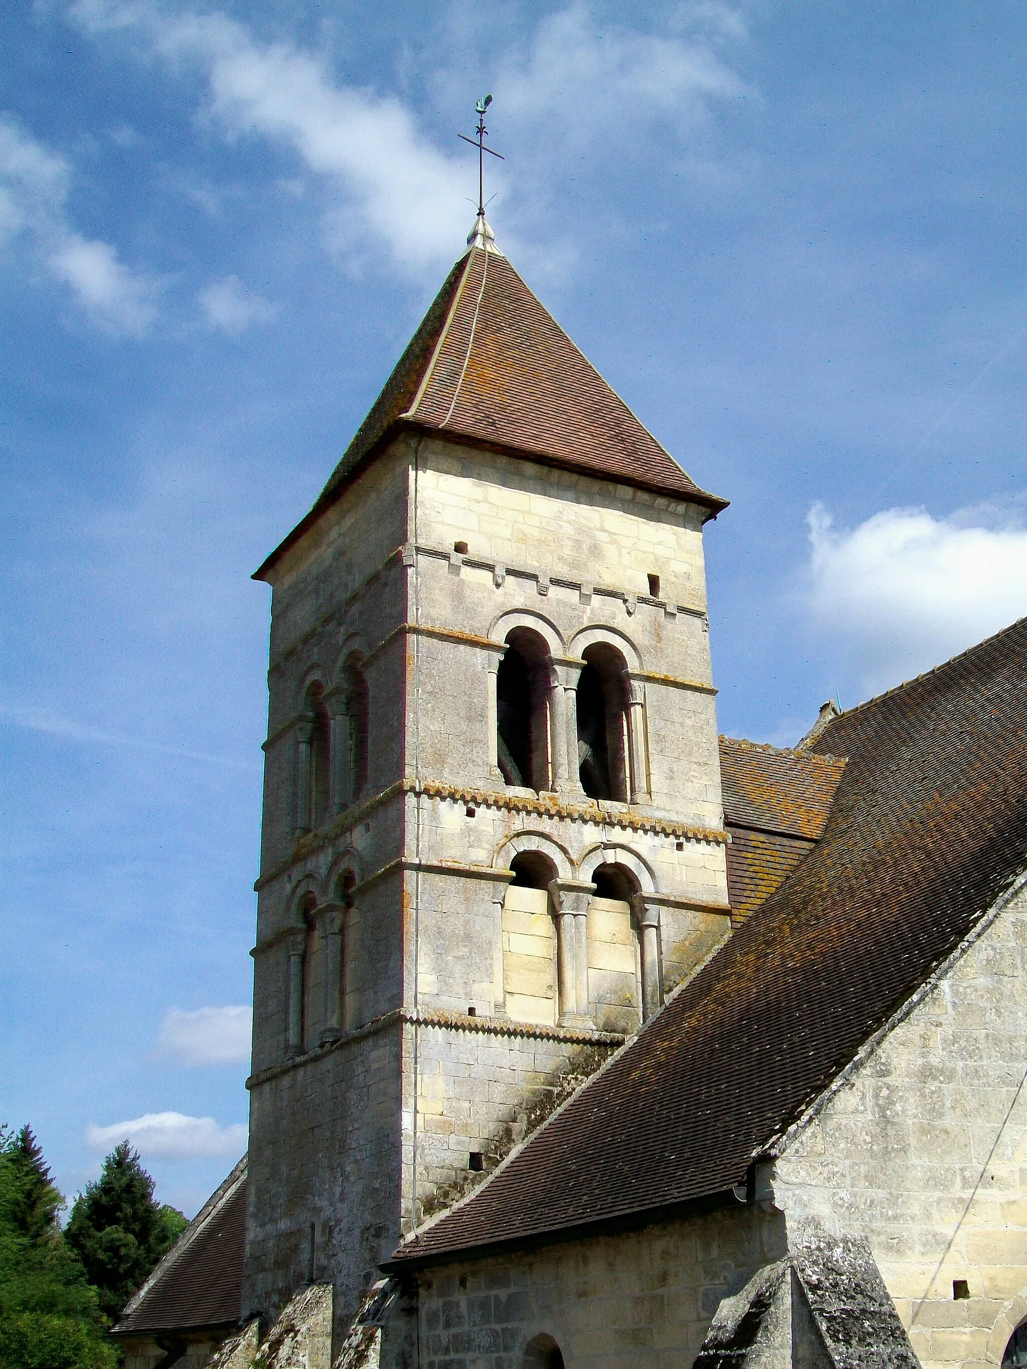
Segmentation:
{"type": "Polygon", "coordinates": [[[453,257],[468,226],[467,168],[444,157],[398,100],[338,86],[319,55],[257,42],[222,14],[107,0],[78,0],[70,12],[93,34],[129,30],[151,55],[199,67],[207,112],[226,134],[292,148],[327,178],[345,201],[326,216],[333,242],[356,246],[370,233],[414,274],[453,257]]]}

